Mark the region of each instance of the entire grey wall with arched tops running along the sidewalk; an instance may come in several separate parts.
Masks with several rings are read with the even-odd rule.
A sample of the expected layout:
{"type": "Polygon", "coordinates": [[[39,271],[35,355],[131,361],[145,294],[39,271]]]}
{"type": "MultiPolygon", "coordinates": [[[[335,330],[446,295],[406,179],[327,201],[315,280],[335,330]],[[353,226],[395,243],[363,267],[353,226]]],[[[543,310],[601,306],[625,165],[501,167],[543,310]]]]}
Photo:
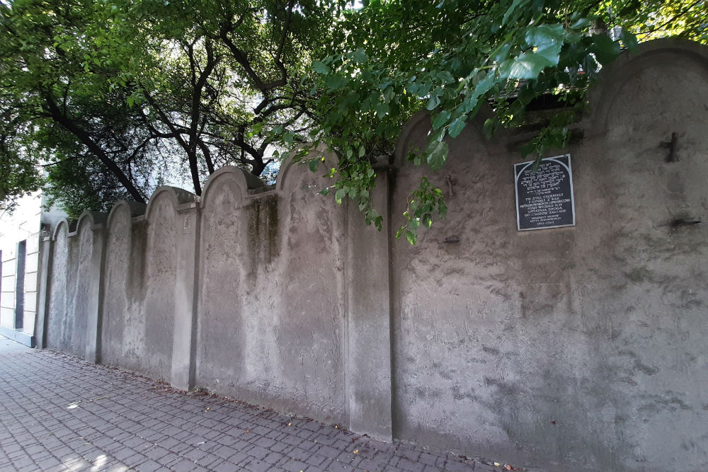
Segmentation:
{"type": "Polygon", "coordinates": [[[571,227],[517,231],[529,136],[486,140],[480,117],[430,177],[447,219],[416,246],[394,239],[426,115],[378,172],[381,233],[289,163],[276,188],[224,168],[201,198],[161,188],[105,225],[59,224],[42,243],[40,345],[517,464],[707,468],[708,235],[677,224],[708,210],[707,73],[706,48],[678,41],[603,71],[563,151],[571,227]]]}

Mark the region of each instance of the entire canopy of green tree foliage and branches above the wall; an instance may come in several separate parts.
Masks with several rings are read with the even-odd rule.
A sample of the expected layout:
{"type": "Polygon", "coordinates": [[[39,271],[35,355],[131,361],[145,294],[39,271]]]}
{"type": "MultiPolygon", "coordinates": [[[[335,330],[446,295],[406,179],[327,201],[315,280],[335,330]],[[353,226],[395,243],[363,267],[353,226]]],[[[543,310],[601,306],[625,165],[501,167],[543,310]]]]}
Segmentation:
{"type": "MultiPolygon", "coordinates": [[[[482,106],[492,134],[552,94],[564,107],[523,150],[539,158],[564,146],[623,48],[708,41],[705,0],[3,1],[0,196],[36,188],[42,163],[74,214],[144,201],[175,171],[199,194],[215,168],[260,175],[278,151],[324,142],[341,160],[323,192],[380,228],[375,163],[413,113],[428,110],[433,130],[411,165],[435,171],[482,106]]],[[[321,159],[309,166],[323,172],[321,159]]],[[[399,235],[415,242],[445,210],[423,178],[399,235]]]]}

